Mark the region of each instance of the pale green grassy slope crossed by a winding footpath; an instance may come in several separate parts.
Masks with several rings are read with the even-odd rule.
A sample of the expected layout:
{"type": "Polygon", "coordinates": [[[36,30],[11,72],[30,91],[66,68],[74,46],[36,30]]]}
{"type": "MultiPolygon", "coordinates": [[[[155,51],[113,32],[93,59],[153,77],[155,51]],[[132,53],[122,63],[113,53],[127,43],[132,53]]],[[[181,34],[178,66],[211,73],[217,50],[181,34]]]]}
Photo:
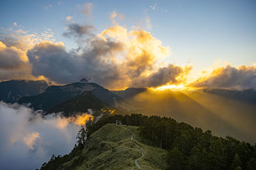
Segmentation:
{"type": "Polygon", "coordinates": [[[107,124],[93,133],[86,147],[61,169],[69,169],[79,157],[83,157],[83,163],[76,164],[75,169],[136,169],[134,160],[141,157],[141,150],[134,143],[145,152],[138,160],[141,169],[165,169],[167,152],[142,144],[138,139],[138,127],[107,124]],[[130,130],[134,132],[133,140],[130,130]]]}

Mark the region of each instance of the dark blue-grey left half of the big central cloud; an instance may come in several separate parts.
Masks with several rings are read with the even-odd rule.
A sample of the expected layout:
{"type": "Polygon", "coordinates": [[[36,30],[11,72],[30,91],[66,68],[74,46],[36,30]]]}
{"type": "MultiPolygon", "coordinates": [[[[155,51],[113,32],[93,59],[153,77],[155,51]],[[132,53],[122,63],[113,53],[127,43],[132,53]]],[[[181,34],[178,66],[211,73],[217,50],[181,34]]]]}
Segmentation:
{"type": "Polygon", "coordinates": [[[109,84],[120,79],[117,65],[113,65],[107,56],[122,49],[117,42],[90,40],[90,47],[83,52],[67,52],[61,43],[40,42],[28,51],[29,62],[33,65],[32,74],[44,75],[51,81],[60,83],[76,82],[86,77],[93,82],[109,84]]]}

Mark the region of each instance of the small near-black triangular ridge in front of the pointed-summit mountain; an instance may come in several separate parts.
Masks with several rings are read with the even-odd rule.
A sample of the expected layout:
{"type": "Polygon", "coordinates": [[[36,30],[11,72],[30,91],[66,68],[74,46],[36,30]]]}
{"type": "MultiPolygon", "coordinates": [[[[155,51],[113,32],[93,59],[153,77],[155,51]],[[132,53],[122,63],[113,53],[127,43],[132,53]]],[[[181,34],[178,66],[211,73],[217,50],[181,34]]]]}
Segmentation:
{"type": "Polygon", "coordinates": [[[77,112],[87,112],[88,109],[102,109],[108,105],[99,98],[92,94],[92,91],[84,91],[81,95],[70,98],[66,102],[58,104],[51,109],[49,112],[63,112],[64,116],[71,116],[77,112]]]}

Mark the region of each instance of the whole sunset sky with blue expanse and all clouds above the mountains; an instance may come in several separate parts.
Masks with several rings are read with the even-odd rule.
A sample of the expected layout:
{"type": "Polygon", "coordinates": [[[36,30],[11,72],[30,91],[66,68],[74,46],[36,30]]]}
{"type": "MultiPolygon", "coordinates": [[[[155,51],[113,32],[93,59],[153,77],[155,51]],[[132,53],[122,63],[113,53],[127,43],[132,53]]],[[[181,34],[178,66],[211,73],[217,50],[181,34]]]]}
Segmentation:
{"type": "Polygon", "coordinates": [[[256,87],[255,1],[0,4],[2,81],[44,77],[65,84],[86,77],[110,89],[256,87]]]}

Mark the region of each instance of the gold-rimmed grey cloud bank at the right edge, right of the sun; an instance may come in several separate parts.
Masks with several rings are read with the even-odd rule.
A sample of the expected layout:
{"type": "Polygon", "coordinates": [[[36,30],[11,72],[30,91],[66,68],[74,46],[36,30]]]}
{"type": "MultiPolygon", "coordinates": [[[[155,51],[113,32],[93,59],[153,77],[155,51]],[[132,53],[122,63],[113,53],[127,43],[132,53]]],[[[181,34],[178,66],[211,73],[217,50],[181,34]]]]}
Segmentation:
{"type": "Polygon", "coordinates": [[[256,67],[239,66],[238,68],[227,65],[216,68],[209,77],[202,77],[190,86],[202,88],[235,88],[256,89],[256,67]]]}

